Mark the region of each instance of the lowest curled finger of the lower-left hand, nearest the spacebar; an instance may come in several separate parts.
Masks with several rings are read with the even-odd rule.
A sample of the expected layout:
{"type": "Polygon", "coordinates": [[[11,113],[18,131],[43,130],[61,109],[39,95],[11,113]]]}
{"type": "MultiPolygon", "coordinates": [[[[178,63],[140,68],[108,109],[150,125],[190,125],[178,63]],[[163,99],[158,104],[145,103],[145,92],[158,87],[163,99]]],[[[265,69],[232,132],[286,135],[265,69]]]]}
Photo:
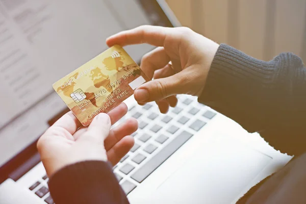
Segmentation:
{"type": "Polygon", "coordinates": [[[123,137],[118,143],[107,151],[108,161],[115,166],[121,160],[121,158],[130,151],[133,145],[134,138],[132,136],[123,137]]]}

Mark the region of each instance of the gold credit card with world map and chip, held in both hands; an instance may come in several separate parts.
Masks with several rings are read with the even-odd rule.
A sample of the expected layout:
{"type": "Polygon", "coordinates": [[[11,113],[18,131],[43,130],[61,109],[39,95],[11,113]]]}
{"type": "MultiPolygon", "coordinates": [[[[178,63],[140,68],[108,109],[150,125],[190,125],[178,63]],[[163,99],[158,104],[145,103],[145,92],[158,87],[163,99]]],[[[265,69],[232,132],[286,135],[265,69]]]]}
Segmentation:
{"type": "Polygon", "coordinates": [[[140,67],[115,45],[53,84],[54,90],[84,126],[107,113],[149,81],[140,67]]]}

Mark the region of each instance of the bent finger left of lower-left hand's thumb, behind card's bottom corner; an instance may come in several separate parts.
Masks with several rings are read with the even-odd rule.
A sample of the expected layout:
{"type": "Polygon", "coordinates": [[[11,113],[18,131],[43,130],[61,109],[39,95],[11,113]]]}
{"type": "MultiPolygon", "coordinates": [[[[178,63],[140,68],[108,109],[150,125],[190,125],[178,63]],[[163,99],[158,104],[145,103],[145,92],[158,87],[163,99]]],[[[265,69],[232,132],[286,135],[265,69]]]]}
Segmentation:
{"type": "Polygon", "coordinates": [[[81,127],[81,122],[73,115],[71,111],[63,115],[58,119],[49,129],[54,127],[62,127],[64,130],[68,131],[71,135],[75,133],[81,127]]]}

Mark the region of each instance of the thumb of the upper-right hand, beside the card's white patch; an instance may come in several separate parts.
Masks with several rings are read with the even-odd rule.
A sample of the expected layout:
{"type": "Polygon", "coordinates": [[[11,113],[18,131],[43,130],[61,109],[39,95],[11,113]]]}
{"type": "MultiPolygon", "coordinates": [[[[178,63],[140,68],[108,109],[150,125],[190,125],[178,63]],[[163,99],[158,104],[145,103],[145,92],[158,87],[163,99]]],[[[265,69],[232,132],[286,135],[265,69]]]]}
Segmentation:
{"type": "Polygon", "coordinates": [[[182,72],[176,73],[170,77],[149,81],[134,92],[134,97],[139,103],[160,100],[175,94],[184,94],[185,76],[182,72]]]}

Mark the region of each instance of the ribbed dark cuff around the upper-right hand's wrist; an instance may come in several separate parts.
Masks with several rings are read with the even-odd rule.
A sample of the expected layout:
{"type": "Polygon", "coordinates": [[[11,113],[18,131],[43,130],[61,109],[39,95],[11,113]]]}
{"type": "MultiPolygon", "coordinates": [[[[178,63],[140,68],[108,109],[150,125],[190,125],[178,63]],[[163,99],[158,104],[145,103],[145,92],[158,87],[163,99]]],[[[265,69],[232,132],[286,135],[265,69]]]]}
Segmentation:
{"type": "Polygon", "coordinates": [[[261,97],[267,91],[262,90],[273,79],[275,63],[251,58],[231,46],[221,44],[209,70],[205,88],[198,97],[199,103],[232,118],[249,132],[256,131],[250,123],[262,117],[255,109],[266,106],[261,97]],[[260,98],[257,98],[258,94],[260,98]]]}

